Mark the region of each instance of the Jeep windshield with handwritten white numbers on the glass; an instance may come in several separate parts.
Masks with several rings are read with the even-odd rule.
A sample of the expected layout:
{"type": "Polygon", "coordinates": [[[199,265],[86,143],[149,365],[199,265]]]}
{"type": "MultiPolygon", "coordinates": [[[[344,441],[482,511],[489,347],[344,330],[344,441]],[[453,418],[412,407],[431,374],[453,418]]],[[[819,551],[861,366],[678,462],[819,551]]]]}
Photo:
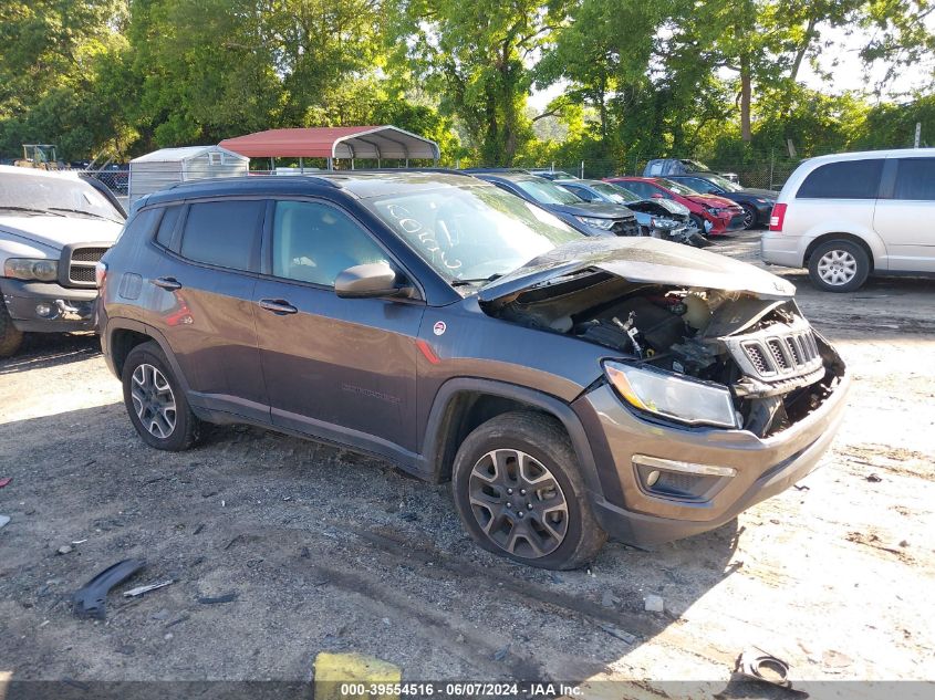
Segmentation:
{"type": "Polygon", "coordinates": [[[583,238],[548,211],[492,186],[402,192],[363,203],[454,283],[487,282],[583,238]]]}

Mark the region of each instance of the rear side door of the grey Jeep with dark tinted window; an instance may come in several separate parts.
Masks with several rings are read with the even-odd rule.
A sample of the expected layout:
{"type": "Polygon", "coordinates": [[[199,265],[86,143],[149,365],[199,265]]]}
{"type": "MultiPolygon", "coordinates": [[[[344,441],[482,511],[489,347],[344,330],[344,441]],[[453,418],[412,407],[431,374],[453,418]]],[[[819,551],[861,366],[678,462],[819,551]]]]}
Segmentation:
{"type": "Polygon", "coordinates": [[[225,199],[170,207],[153,245],[150,323],[166,338],[206,408],[269,420],[253,320],[266,201],[225,199]]]}

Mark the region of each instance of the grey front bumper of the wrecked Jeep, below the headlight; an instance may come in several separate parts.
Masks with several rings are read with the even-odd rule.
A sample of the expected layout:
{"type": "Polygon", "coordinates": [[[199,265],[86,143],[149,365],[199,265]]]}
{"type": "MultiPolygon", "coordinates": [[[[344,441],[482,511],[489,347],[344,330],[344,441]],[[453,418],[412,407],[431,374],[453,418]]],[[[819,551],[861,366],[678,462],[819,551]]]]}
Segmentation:
{"type": "Polygon", "coordinates": [[[590,436],[603,491],[592,494],[598,520],[611,536],[637,546],[719,527],[818,466],[841,422],[850,383],[845,373],[810,416],[769,438],[646,420],[625,408],[610,386],[598,387],[572,405],[590,436]],[[634,456],[727,468],[735,476],[706,477],[695,499],[667,498],[647,490],[634,456]]]}

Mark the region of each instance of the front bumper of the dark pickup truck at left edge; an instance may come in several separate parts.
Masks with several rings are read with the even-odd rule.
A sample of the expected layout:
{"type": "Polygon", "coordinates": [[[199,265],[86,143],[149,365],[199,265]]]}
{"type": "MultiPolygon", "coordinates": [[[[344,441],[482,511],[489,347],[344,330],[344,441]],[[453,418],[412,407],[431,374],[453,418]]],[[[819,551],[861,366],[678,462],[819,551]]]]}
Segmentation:
{"type": "Polygon", "coordinates": [[[54,282],[0,278],[3,302],[13,325],[29,333],[67,333],[94,330],[96,289],[70,289],[54,282]],[[42,315],[38,306],[48,306],[42,315]]]}

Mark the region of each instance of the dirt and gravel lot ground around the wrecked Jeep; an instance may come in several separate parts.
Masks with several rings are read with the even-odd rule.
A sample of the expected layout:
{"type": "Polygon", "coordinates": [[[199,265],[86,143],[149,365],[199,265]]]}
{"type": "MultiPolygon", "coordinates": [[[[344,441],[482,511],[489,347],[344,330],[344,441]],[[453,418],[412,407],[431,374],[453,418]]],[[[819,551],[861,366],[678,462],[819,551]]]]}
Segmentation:
{"type": "MultiPolygon", "coordinates": [[[[756,239],[720,250],[752,260],[756,239]]],[[[935,283],[831,295],[788,276],[856,379],[823,468],[718,531],[610,544],[561,574],[488,555],[447,485],[350,452],[242,427],[148,449],[94,338],[33,341],[0,363],[0,671],[302,680],[341,650],[411,680],[622,678],[653,694],[640,679],[724,689],[756,645],[796,679],[935,678],[935,283]],[[176,583],[112,593],[106,623],[74,618],[63,596],[129,556],[148,562],[134,585],[176,583]],[[666,613],[643,610],[647,593],[666,613]]]]}

